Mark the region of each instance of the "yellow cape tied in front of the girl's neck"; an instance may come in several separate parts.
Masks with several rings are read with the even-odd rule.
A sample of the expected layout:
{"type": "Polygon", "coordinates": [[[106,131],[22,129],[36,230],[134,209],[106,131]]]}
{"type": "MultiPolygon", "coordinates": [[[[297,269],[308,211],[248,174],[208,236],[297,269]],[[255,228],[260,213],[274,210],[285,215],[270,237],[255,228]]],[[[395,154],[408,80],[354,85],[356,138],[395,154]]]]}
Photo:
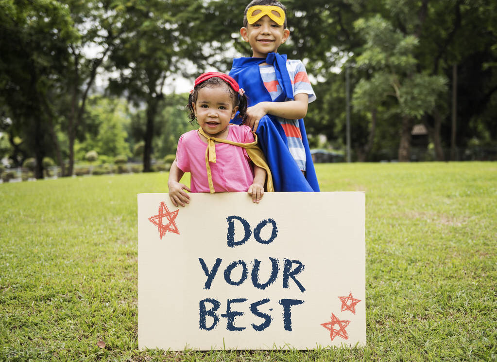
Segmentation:
{"type": "Polygon", "coordinates": [[[245,148],[247,150],[248,157],[253,162],[253,164],[266,170],[267,173],[266,191],[274,192],[273,177],[271,175],[271,171],[269,170],[269,166],[267,165],[264,153],[262,153],[262,150],[257,146],[257,135],[254,132],[252,132],[252,134],[255,138],[255,141],[250,143],[235,142],[235,141],[230,141],[228,139],[211,137],[204,132],[202,127],[198,129],[198,132],[201,135],[203,135],[205,138],[207,138],[207,148],[205,149],[205,167],[207,168],[207,178],[209,180],[209,190],[211,194],[216,192],[214,190],[214,184],[212,183],[211,166],[209,165],[209,162],[216,163],[215,142],[228,143],[234,146],[245,148]]]}

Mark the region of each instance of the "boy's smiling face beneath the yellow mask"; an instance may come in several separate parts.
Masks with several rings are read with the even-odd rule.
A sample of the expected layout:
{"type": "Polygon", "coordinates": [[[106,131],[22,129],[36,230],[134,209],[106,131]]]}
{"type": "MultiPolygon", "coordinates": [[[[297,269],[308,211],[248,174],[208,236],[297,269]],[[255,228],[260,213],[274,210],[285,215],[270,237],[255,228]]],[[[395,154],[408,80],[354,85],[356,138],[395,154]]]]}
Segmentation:
{"type": "Polygon", "coordinates": [[[268,53],[276,52],[278,47],[288,39],[290,30],[264,15],[253,24],[241,28],[240,34],[250,44],[252,57],[265,58],[268,53]]]}

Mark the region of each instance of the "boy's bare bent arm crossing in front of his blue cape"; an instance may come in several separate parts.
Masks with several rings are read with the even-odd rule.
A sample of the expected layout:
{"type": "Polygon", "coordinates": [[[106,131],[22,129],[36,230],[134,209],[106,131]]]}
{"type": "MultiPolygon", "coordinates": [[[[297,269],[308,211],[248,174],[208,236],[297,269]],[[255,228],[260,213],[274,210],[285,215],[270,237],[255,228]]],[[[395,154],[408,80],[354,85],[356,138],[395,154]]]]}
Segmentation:
{"type": "Polygon", "coordinates": [[[295,95],[294,101],[286,102],[260,102],[247,109],[248,125],[255,132],[259,120],[265,115],[273,115],[287,120],[300,120],[307,114],[307,104],[309,102],[309,95],[306,93],[299,93],[295,95]]]}

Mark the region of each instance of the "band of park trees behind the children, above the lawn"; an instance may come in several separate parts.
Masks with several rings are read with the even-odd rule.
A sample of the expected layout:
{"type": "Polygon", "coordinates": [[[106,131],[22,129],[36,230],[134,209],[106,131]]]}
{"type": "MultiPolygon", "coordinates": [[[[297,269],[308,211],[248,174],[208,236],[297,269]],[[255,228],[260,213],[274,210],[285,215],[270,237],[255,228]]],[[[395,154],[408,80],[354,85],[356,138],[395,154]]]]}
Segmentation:
{"type": "MultiPolygon", "coordinates": [[[[285,4],[317,160],[497,158],[495,1],[285,4]]],[[[2,179],[167,170],[195,77],[251,54],[245,5],[2,0],[2,179]]]]}

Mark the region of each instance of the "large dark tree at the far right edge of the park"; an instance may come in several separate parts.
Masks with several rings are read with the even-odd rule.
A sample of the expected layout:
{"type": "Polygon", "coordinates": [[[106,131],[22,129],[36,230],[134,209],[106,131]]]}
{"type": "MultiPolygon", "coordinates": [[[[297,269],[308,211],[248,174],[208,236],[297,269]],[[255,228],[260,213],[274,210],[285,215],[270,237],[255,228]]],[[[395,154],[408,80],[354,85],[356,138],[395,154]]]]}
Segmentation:
{"type": "Polygon", "coordinates": [[[489,67],[497,60],[493,50],[497,5],[489,0],[388,0],[385,4],[392,24],[419,41],[419,46],[414,50],[417,70],[444,76],[451,82],[450,87],[438,97],[433,111],[422,117],[436,157],[442,160],[442,145],[450,143],[452,118],[457,121],[457,144],[465,146],[473,137],[482,137],[485,132],[481,130],[489,129],[492,119],[497,117],[494,110],[493,114],[492,111],[487,113],[479,122],[471,121],[486,114],[487,109],[492,109],[490,100],[497,90],[496,67],[489,67]],[[456,72],[453,73],[453,70],[456,72]],[[459,74],[457,85],[453,74],[459,74]],[[458,91],[452,98],[454,87],[458,91]],[[449,111],[452,107],[455,107],[455,114],[449,111]]]}

